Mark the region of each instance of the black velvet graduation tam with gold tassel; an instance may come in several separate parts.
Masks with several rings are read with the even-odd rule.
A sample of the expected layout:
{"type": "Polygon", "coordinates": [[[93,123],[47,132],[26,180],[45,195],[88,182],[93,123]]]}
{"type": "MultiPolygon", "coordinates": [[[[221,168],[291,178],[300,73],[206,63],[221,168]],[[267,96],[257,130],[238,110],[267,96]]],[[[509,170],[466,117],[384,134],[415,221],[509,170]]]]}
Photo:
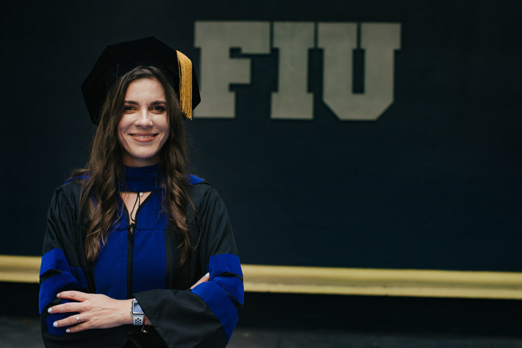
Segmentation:
{"type": "Polygon", "coordinates": [[[199,88],[192,62],[155,37],[116,43],[105,47],[81,85],[92,123],[100,122],[100,111],[112,84],[137,66],[159,68],[180,98],[185,116],[199,104],[199,88]]]}

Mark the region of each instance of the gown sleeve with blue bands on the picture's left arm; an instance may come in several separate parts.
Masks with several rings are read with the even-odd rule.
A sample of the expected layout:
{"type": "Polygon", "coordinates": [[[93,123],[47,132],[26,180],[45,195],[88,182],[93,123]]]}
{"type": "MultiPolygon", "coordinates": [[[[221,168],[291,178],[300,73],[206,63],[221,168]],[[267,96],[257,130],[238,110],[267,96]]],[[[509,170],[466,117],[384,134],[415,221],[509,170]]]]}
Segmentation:
{"type": "MultiPolygon", "coordinates": [[[[66,327],[55,328],[53,322],[72,315],[71,313],[49,314],[48,309],[71,300],[60,299],[56,294],[66,290],[91,292],[82,270],[85,257],[82,252],[82,230],[77,222],[75,209],[77,193],[71,190],[75,183],[56,189],[47,217],[47,231],[43,243],[40,265],[39,312],[42,338],[46,347],[85,347],[89,340],[108,344],[122,341],[121,334],[113,329],[86,330],[78,334],[65,334],[66,327]]],[[[123,341],[124,342],[124,341],[123,341]]]]}

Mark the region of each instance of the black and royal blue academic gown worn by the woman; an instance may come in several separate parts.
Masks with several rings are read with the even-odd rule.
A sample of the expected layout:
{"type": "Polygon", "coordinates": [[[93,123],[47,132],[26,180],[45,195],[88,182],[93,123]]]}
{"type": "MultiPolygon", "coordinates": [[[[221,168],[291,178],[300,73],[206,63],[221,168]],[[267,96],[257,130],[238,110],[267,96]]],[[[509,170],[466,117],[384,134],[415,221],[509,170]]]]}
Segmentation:
{"type": "Polygon", "coordinates": [[[40,268],[45,346],[226,346],[243,307],[243,274],[227,210],[218,193],[202,179],[188,176],[195,211],[187,208],[191,252],[180,267],[181,240],[162,210],[158,166],[125,167],[124,177],[121,191],[151,193],[137,208],[135,222],[129,221],[118,196],[121,216],[115,219],[95,262],[87,261],[84,252],[90,221],[80,213],[82,178],[69,180],[54,193],[40,268]],[[207,272],[208,282],[189,289],[207,272]],[[65,290],[136,298],[152,327],[145,327],[147,332],[124,325],[77,333],[54,328],[54,321],[76,315],[48,314],[50,306],[68,301],[56,298],[65,290]]]}

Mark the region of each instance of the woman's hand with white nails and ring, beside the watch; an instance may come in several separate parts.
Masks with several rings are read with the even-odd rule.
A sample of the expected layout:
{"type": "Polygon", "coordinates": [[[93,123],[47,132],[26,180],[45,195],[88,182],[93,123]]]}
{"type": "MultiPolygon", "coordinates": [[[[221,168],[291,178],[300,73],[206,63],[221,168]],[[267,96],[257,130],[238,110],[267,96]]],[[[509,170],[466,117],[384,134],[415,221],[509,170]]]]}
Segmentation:
{"type": "Polygon", "coordinates": [[[73,313],[70,317],[54,322],[57,328],[73,325],[67,329],[67,332],[106,329],[133,323],[132,299],[116,300],[101,294],[86,294],[79,291],[63,291],[57,297],[78,301],[56,305],[48,310],[50,313],[73,313]],[[78,323],[78,312],[81,323],[78,323]]]}

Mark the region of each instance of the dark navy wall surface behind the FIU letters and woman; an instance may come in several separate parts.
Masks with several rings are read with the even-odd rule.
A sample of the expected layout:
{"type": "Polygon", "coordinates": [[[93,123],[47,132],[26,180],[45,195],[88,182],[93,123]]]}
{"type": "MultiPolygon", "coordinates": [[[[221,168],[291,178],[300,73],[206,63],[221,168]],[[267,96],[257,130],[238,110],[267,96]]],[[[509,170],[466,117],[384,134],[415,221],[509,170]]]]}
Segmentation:
{"type": "MultiPolygon", "coordinates": [[[[226,202],[244,263],[522,271],[519,2],[12,2],[2,10],[0,254],[39,255],[55,187],[85,165],[80,84],[104,45],[157,36],[191,57],[195,20],[401,24],[394,103],[339,121],[310,51],[311,121],[270,120],[277,51],[232,85],[233,120],[187,122],[194,172],[226,202]]],[[[203,96],[204,98],[204,96],[203,96]]]]}

